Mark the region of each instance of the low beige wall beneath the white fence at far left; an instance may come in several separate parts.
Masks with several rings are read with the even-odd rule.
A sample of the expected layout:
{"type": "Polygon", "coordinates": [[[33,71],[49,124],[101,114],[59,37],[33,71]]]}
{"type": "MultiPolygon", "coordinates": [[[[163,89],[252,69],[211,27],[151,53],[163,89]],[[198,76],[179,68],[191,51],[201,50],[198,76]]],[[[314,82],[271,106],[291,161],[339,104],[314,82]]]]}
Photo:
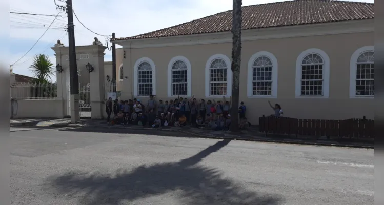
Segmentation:
{"type": "Polygon", "coordinates": [[[63,103],[63,100],[17,100],[13,118],[62,118],[63,103]]]}

